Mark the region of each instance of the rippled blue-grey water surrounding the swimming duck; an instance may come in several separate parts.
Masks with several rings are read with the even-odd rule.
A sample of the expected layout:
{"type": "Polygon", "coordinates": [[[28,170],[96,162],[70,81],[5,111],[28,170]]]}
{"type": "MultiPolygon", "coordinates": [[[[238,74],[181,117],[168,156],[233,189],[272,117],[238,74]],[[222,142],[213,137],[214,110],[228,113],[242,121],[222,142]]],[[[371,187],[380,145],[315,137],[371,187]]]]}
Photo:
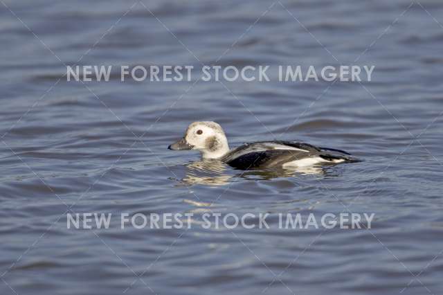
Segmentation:
{"type": "Polygon", "coordinates": [[[0,294],[440,294],[443,3],[0,1],[0,294]],[[371,82],[66,80],[66,65],[374,65],[371,82]],[[242,173],[166,147],[290,139],[365,161],[242,173]],[[210,204],[212,204],[210,206],[210,204]],[[201,215],[269,213],[271,229],[201,215]],[[67,229],[194,213],[191,229],[67,229]],[[367,229],[278,214],[374,213],[367,229]]]}

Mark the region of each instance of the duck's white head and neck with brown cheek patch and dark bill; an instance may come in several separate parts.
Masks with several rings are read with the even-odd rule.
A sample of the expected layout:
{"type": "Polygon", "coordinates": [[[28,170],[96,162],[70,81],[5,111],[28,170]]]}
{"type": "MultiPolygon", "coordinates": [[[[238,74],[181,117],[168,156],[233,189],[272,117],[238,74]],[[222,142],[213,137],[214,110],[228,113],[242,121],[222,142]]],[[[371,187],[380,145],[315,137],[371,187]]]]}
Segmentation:
{"type": "Polygon", "coordinates": [[[204,121],[191,123],[185,136],[168,149],[199,150],[203,159],[218,159],[229,152],[229,145],[220,125],[204,121]]]}

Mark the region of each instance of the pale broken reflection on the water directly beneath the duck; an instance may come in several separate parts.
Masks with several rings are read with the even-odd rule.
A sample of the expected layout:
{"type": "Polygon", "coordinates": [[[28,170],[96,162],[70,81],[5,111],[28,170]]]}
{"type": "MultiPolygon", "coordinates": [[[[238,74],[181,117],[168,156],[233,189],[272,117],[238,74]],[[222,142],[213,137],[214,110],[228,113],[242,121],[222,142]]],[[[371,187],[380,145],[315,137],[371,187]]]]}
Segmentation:
{"type": "Polygon", "coordinates": [[[223,186],[231,179],[275,179],[278,177],[296,177],[299,175],[329,175],[321,166],[300,168],[278,168],[261,170],[233,170],[221,161],[203,160],[194,161],[186,165],[186,176],[181,182],[186,185],[206,184],[210,186],[223,186]]]}

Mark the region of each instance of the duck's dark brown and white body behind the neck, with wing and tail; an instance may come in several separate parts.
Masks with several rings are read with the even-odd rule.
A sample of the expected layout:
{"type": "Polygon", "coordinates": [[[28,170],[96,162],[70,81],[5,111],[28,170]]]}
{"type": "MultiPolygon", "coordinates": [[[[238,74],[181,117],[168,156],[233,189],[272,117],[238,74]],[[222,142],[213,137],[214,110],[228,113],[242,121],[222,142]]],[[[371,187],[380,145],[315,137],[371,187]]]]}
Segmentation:
{"type": "Polygon", "coordinates": [[[357,161],[345,151],[316,147],[296,141],[259,141],[245,143],[230,151],[222,159],[240,169],[272,168],[284,165],[306,166],[316,163],[340,163],[357,161]]]}

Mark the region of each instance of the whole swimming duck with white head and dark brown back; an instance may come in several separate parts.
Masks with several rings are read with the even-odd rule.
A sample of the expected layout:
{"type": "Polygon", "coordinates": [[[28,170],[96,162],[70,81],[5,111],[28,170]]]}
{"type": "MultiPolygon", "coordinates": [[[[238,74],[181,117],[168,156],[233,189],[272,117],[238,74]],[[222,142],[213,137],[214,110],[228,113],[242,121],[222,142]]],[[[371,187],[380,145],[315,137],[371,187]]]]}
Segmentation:
{"type": "Polygon", "coordinates": [[[217,159],[239,169],[298,168],[320,163],[357,162],[343,150],[316,147],[295,141],[257,141],[229,149],[228,139],[215,122],[191,123],[185,136],[170,150],[199,150],[203,159],[217,159]]]}

